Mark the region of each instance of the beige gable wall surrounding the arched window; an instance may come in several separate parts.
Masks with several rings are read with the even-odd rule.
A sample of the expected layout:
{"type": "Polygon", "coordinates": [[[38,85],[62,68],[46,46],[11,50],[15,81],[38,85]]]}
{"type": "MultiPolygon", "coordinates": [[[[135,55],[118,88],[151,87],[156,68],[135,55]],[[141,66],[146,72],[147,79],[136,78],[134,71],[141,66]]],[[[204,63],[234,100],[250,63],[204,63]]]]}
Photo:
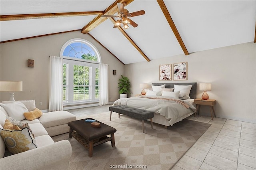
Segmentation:
{"type": "MultiPolygon", "coordinates": [[[[36,107],[48,109],[49,55],[60,56],[62,45],[73,38],[88,40],[98,49],[102,63],[109,65],[109,101],[119,98],[117,82],[120,74],[124,74],[124,65],[89,35],[78,31],[0,44],[0,80],[23,81],[23,91],[15,93],[15,100],[35,99],[36,107]],[[27,67],[28,59],[34,59],[34,68],[27,67]],[[113,75],[113,70],[117,70],[117,75],[113,75]]],[[[6,100],[9,93],[1,92],[0,101],[6,100]]]]}

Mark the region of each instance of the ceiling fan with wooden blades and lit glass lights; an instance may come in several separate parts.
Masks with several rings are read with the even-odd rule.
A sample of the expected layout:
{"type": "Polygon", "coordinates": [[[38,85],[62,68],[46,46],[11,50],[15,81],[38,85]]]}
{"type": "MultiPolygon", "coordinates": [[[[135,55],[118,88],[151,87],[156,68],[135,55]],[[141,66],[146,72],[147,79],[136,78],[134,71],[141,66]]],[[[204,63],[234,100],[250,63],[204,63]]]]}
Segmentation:
{"type": "Polygon", "coordinates": [[[130,19],[130,17],[145,14],[144,10],[129,13],[128,10],[124,9],[124,6],[126,6],[126,4],[124,2],[123,3],[117,3],[117,6],[118,6],[118,10],[119,10],[118,13],[117,13],[117,16],[114,16],[114,15],[102,15],[101,16],[101,17],[110,17],[110,18],[121,18],[120,20],[116,21],[116,24],[114,25],[113,28],[120,27],[121,24],[123,24],[123,28],[125,28],[125,29],[129,28],[128,24],[132,25],[133,27],[137,27],[138,24],[136,24],[134,21],[132,21],[130,19]]]}

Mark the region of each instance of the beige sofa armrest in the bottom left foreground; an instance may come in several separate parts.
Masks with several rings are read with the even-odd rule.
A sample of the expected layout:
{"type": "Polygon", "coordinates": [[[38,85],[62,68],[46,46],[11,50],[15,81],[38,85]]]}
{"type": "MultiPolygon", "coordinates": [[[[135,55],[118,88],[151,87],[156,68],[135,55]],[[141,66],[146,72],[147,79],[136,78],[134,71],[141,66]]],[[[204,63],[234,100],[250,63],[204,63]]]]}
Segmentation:
{"type": "Polygon", "coordinates": [[[68,170],[72,147],[68,140],[42,146],[0,159],[2,170],[68,170]]]}

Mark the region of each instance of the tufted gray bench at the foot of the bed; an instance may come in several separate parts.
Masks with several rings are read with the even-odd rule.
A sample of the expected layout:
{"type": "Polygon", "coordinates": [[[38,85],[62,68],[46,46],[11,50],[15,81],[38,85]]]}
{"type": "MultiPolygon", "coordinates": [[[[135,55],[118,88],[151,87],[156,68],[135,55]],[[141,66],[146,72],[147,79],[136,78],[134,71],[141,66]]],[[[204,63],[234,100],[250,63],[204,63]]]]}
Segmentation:
{"type": "Polygon", "coordinates": [[[152,122],[152,117],[154,117],[154,112],[151,111],[145,111],[142,109],[136,109],[134,107],[130,106],[110,106],[109,107],[110,111],[110,121],[111,121],[111,115],[112,111],[118,113],[118,118],[120,118],[120,114],[130,116],[139,120],[142,120],[142,131],[144,133],[144,120],[150,119],[151,122],[151,128],[153,128],[153,122],[152,122]]]}

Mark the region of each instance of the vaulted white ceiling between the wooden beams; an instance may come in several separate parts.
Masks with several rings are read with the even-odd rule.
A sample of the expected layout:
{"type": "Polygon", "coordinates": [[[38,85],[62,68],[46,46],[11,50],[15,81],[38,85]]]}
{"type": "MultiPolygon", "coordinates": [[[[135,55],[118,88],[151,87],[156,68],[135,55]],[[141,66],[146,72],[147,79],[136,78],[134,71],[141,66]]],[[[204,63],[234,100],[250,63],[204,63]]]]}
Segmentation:
{"type": "MultiPolygon", "coordinates": [[[[0,14],[44,14],[60,12],[104,12],[114,0],[1,0],[0,14]]],[[[255,0],[164,0],[188,53],[255,41],[255,0]]],[[[110,19],[89,34],[122,63],[136,63],[184,54],[157,0],[134,0],[125,6],[129,12],[144,10],[131,19],[138,27],[124,32],[110,19]],[[138,51],[134,44],[144,53],[138,51]]],[[[0,22],[0,41],[81,30],[98,15],[8,20],[0,22]]],[[[2,18],[1,18],[2,19],[2,18]]],[[[82,33],[81,33],[82,34],[82,33]]],[[[185,55],[185,54],[184,54],[185,55]]]]}

